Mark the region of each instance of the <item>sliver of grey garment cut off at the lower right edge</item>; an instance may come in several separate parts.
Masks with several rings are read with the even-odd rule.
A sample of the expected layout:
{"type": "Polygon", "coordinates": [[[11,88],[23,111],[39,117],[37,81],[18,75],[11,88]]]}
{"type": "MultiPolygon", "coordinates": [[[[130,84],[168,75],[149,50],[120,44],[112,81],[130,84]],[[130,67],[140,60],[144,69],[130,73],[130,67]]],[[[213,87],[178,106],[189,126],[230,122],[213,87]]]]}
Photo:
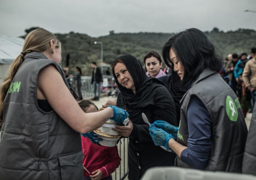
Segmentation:
{"type": "Polygon", "coordinates": [[[252,112],[250,129],[248,132],[244,160],[242,164],[242,173],[256,175],[256,105],[252,112]]]}

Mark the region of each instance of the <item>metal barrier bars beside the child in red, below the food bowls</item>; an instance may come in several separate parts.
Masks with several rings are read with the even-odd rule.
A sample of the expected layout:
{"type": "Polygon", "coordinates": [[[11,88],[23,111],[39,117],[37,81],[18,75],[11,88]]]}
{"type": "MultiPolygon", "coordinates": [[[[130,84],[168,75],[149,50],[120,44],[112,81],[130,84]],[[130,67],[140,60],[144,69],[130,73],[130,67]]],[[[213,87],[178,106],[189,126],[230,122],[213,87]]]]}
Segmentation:
{"type": "Polygon", "coordinates": [[[129,138],[121,138],[117,145],[122,160],[116,171],[112,173],[113,180],[124,180],[128,175],[128,143],[129,138]]]}

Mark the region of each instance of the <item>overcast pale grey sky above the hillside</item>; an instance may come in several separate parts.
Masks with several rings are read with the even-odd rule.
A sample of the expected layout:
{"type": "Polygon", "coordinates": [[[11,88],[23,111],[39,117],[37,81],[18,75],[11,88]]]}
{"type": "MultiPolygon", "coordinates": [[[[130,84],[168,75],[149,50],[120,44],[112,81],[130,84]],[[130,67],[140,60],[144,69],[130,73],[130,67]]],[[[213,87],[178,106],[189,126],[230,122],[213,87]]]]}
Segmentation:
{"type": "Polygon", "coordinates": [[[119,32],[256,29],[256,0],[0,0],[0,35],[33,26],[98,37],[119,32]]]}

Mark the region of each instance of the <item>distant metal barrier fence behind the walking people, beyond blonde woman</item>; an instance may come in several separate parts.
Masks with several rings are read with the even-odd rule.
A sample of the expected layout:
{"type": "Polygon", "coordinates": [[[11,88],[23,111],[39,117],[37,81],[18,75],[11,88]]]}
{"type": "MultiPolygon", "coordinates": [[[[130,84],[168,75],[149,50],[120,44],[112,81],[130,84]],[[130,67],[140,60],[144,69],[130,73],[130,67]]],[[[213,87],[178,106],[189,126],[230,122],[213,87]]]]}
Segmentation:
{"type": "MultiPolygon", "coordinates": [[[[89,99],[94,97],[94,87],[91,84],[91,76],[81,76],[81,82],[82,82],[82,87],[81,87],[81,92],[82,92],[82,97],[84,99],[89,99]]],[[[114,86],[114,78],[113,76],[108,76],[108,75],[103,75],[102,77],[103,83],[102,83],[102,89],[101,93],[104,93],[106,91],[106,88],[108,86],[114,86]]],[[[74,79],[70,79],[70,84],[74,84],[74,79]]],[[[77,87],[73,86],[75,92],[77,93],[77,87]]]]}

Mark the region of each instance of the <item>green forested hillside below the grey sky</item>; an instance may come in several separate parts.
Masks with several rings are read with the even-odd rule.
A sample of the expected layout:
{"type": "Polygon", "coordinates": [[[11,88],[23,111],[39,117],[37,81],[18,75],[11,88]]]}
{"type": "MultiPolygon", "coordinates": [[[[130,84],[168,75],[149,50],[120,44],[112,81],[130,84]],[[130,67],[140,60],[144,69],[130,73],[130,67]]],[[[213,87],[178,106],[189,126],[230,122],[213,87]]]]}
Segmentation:
{"type": "MultiPolygon", "coordinates": [[[[26,29],[29,32],[32,28],[26,29]]],[[[204,32],[215,45],[217,53],[223,58],[229,53],[250,53],[250,49],[256,46],[256,31],[251,29],[238,29],[236,31],[223,32],[218,28],[204,32]]],[[[165,42],[175,33],[114,33],[108,36],[93,38],[86,34],[70,32],[68,34],[55,34],[62,42],[62,66],[65,66],[66,55],[70,54],[70,69],[76,65],[82,66],[84,75],[90,75],[89,65],[91,61],[100,61],[100,44],[103,42],[103,61],[111,64],[123,54],[132,54],[141,62],[144,55],[154,50],[161,54],[165,42]]]]}

